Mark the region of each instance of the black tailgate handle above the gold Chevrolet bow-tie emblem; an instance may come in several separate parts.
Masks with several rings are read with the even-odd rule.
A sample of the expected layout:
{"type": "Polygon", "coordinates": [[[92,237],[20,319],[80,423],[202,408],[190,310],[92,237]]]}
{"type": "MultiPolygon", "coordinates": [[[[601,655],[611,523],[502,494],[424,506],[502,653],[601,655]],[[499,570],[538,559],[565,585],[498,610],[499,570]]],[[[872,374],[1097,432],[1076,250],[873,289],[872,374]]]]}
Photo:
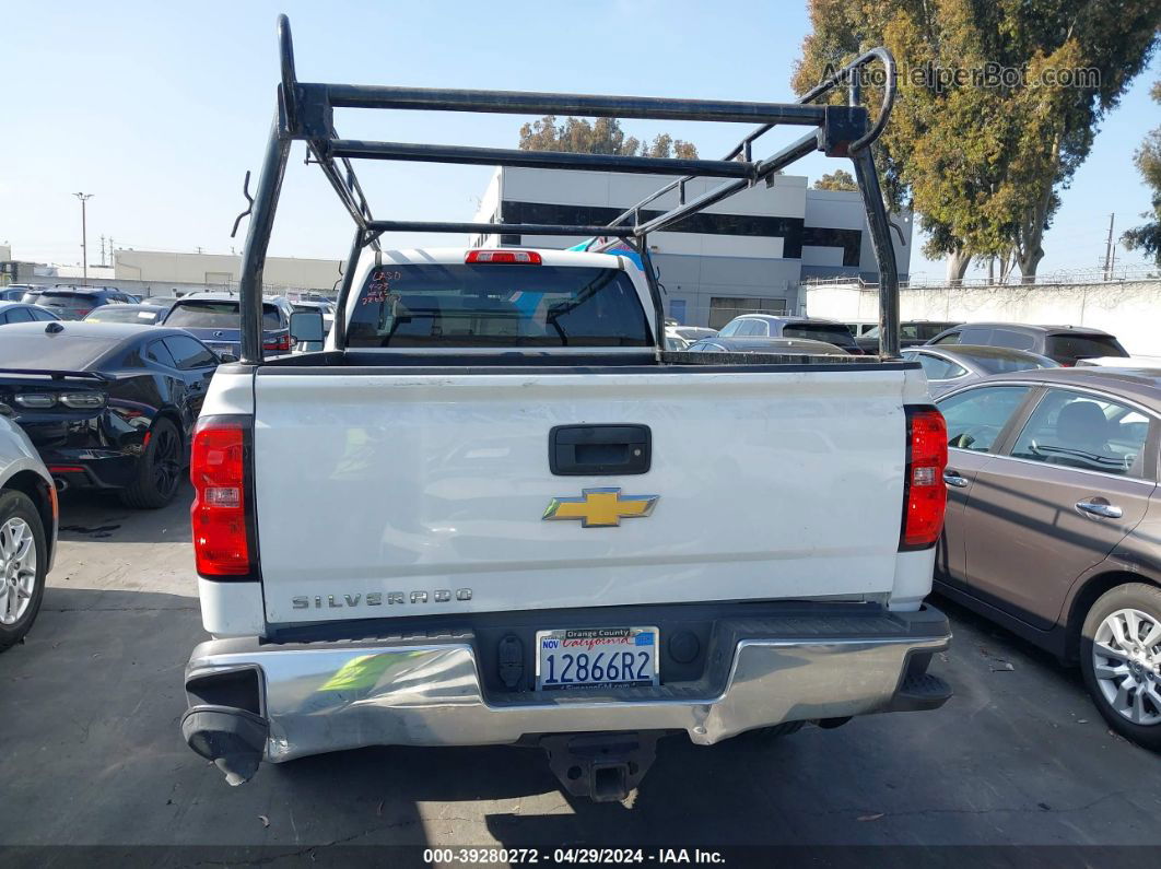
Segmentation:
{"type": "Polygon", "coordinates": [[[649,426],[555,426],[548,433],[548,466],[561,477],[644,473],[651,447],[649,426]]]}

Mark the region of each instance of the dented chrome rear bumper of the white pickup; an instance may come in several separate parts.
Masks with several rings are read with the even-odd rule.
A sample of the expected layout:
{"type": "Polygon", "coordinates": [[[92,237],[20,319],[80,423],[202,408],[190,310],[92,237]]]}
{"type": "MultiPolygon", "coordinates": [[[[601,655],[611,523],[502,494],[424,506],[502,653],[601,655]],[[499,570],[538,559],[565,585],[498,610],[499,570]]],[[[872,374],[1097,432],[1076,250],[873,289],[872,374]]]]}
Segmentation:
{"type": "Polygon", "coordinates": [[[723,646],[719,679],[607,693],[490,694],[470,635],[294,645],[211,640],[194,650],[186,671],[183,730],[209,756],[212,749],[205,740],[196,745],[193,733],[205,714],[229,714],[231,703],[214,686],[239,673],[254,676],[259,696],[243,705],[251,724],[267,724],[261,759],[269,762],[372,745],[496,745],[592,731],[685,731],[693,743],[712,745],[784,722],[938,707],[946,686],[923,672],[930,653],[947,647],[946,620],[930,609],[902,615],[926,617],[918,630],[895,636],[783,636],[784,620],[771,636],[723,646]],[[925,687],[916,693],[909,685],[925,687]]]}

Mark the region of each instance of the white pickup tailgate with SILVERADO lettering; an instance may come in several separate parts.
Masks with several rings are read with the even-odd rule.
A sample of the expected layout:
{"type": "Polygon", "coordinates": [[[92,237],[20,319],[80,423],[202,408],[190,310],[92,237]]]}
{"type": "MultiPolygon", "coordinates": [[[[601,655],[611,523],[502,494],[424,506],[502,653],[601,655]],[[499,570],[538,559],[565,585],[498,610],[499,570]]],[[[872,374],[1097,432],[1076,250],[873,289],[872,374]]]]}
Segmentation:
{"type": "Polygon", "coordinates": [[[268,621],[890,591],[904,371],[610,370],[259,369],[268,621]],[[649,426],[651,469],[554,476],[580,423],[649,426]],[[542,520],[585,488],[657,500],[542,520]]]}

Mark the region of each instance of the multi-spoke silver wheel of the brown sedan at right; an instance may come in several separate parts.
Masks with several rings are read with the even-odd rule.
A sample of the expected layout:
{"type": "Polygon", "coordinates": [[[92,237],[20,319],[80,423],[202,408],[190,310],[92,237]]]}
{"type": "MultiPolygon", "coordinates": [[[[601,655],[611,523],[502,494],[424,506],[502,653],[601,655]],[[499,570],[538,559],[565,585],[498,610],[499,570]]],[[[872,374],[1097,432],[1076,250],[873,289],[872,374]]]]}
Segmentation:
{"type": "Polygon", "coordinates": [[[1097,599],[1081,628],[1081,669],[1109,726],[1161,749],[1161,588],[1130,582],[1097,599]]]}

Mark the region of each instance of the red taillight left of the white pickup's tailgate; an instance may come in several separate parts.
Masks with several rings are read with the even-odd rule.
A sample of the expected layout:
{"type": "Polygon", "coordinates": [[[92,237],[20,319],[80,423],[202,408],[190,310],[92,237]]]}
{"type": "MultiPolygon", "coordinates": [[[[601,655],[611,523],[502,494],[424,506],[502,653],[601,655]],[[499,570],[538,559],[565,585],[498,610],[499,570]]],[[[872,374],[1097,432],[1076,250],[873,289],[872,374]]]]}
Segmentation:
{"type": "Polygon", "coordinates": [[[246,421],[205,417],[194,428],[189,479],[194,484],[194,558],[203,577],[251,572],[246,527],[246,421]]]}

